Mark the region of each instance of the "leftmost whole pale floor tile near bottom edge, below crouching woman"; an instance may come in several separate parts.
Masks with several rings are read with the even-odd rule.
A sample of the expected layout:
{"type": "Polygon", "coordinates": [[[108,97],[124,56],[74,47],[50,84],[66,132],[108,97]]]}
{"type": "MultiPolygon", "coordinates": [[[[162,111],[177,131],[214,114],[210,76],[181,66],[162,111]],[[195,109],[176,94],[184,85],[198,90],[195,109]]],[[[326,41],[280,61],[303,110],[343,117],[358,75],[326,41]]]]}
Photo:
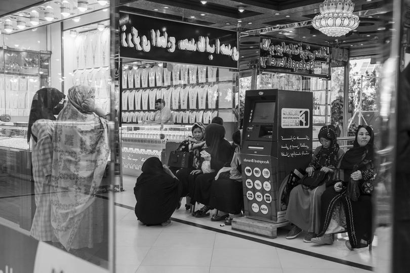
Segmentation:
{"type": "Polygon", "coordinates": [[[211,248],[152,247],[141,265],[210,266],[211,248]]]}

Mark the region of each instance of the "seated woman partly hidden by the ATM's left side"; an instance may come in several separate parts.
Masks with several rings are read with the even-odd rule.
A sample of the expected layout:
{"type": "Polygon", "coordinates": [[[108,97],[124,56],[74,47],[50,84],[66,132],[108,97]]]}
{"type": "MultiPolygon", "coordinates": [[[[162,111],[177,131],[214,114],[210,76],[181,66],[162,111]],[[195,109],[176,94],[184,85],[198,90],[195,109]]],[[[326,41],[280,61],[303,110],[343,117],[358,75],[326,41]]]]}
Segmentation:
{"type": "Polygon", "coordinates": [[[230,225],[231,216],[241,216],[243,209],[242,191],[242,160],[240,157],[240,139],[242,130],[232,134],[233,150],[235,151],[230,167],[223,167],[212,181],[210,206],[217,209],[218,213],[212,215],[211,221],[225,220],[230,225]]]}

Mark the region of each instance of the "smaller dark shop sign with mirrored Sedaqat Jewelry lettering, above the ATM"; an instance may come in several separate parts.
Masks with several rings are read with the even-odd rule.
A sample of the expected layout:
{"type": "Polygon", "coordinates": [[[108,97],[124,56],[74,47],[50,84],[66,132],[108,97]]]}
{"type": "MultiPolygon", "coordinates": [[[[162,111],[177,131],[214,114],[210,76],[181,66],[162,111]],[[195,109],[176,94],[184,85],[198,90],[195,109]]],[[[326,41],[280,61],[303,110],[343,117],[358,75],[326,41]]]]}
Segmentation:
{"type": "Polygon", "coordinates": [[[261,38],[260,64],[267,71],[316,77],[330,76],[329,47],[261,38]]]}

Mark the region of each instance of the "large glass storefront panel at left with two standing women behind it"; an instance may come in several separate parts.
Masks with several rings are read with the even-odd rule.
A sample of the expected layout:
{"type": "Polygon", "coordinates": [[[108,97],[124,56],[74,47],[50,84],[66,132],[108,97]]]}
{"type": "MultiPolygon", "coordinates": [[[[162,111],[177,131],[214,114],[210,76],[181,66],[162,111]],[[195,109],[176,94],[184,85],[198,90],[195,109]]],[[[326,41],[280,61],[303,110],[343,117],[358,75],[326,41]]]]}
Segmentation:
{"type": "Polygon", "coordinates": [[[88,4],[1,18],[0,271],[106,272],[112,262],[109,11],[88,4]],[[87,41],[79,58],[70,31],[87,41]]]}

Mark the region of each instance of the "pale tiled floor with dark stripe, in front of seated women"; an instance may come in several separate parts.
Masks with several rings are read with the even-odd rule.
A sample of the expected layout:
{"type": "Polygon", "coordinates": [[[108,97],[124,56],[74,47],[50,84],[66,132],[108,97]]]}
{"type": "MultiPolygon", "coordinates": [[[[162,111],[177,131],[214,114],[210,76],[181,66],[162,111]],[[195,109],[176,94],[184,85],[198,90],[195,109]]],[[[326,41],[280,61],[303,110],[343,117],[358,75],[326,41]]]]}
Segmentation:
{"type": "Polygon", "coordinates": [[[362,273],[370,271],[361,265],[373,266],[368,249],[349,251],[343,238],[332,246],[317,246],[303,243],[303,236],[286,240],[287,231],[278,230],[278,238],[266,239],[232,231],[209,217],[192,217],[184,205],[168,226],[138,225],[131,209],[134,184],[134,179],[125,179],[126,191],[115,194],[117,272],[362,273]]]}

